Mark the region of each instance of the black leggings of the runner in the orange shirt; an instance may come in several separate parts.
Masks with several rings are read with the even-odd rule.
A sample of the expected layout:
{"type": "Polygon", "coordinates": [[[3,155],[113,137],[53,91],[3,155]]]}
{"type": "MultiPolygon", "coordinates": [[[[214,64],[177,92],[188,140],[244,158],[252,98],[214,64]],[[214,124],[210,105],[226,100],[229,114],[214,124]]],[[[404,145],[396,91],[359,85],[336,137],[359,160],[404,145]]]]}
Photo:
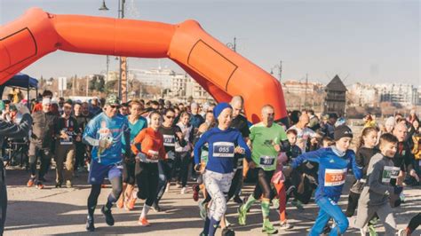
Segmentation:
{"type": "Polygon", "coordinates": [[[139,162],[136,165],[136,182],[138,183],[138,198],[147,200],[147,206],[152,206],[156,200],[158,188],[158,163],[139,162]]]}

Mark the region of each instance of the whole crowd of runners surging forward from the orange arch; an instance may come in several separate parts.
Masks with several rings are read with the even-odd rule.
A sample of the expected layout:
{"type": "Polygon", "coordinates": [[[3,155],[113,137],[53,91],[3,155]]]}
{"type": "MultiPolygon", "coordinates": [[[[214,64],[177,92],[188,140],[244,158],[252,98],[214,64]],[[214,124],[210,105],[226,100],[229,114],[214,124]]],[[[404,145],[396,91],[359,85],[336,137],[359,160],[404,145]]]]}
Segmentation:
{"type": "MultiPolygon", "coordinates": [[[[312,110],[292,111],[282,123],[274,120],[270,104],[261,107],[261,122],[251,124],[242,114],[244,102],[235,96],[219,104],[163,99],[122,104],[114,95],[56,102],[45,90],[31,104],[27,185],[43,189],[52,160],[56,188],[73,187],[73,178],[89,171],[90,232],[106,183],[112,186],[101,208],[107,224],[115,224],[114,204],[130,211],[139,199],[144,201],[138,223],[149,226],[149,209],[160,211],[170,188],[186,194],[189,180],[195,183],[190,187],[203,236],[215,235],[219,227],[222,235],[234,235],[225,216],[231,199],[239,204],[235,220],[241,225],[258,202],[266,234],[292,229],[288,218],[294,216],[287,217],[286,206],[303,210],[312,198],[320,211],[310,235],[345,233],[355,212],[361,235],[376,235],[377,221],[386,235],[410,235],[420,224],[417,214],[398,229],[392,209],[405,201],[405,186],[420,183],[421,129],[415,112],[407,118],[395,114],[381,124],[368,114],[356,137],[337,114],[319,118],[312,110]],[[354,181],[344,213],[338,201],[348,174],[354,181]],[[242,193],[246,179],[255,183],[248,196],[242,193]],[[278,227],[269,220],[271,206],[279,211],[278,227]]],[[[18,122],[17,107],[21,104],[0,102],[1,118],[18,122]]]]}

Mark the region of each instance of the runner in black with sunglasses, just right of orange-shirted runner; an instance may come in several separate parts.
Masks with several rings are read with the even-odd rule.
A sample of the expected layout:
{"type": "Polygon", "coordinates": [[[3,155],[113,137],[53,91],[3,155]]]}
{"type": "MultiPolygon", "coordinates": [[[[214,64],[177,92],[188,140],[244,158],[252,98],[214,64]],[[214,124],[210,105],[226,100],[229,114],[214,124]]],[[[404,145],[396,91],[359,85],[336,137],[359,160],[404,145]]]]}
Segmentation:
{"type": "Polygon", "coordinates": [[[163,147],[167,156],[165,160],[160,160],[158,164],[159,168],[159,183],[156,200],[152,208],[155,211],[161,211],[159,201],[163,198],[166,188],[170,187],[170,181],[173,173],[173,164],[175,159],[175,146],[176,143],[179,146],[185,146],[187,143],[183,139],[183,134],[179,129],[179,126],[172,125],[175,119],[175,111],[172,108],[167,108],[163,112],[163,125],[159,128],[159,132],[163,135],[163,147]]]}

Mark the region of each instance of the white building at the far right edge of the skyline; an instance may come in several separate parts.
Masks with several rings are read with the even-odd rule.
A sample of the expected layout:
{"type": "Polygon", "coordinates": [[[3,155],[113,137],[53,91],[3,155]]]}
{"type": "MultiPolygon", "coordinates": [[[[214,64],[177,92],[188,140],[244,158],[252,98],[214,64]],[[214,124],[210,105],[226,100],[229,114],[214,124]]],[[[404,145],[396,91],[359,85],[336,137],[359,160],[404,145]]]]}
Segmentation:
{"type": "Polygon", "coordinates": [[[413,106],[417,104],[418,90],[410,84],[378,84],[376,85],[381,102],[391,102],[401,106],[413,106]]]}

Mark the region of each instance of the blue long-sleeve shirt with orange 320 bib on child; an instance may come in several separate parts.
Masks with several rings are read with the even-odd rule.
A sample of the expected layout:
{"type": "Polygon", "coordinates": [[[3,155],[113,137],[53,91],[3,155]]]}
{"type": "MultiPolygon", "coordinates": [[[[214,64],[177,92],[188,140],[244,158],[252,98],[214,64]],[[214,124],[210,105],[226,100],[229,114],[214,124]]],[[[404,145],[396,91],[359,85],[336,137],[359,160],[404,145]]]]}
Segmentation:
{"type": "Polygon", "coordinates": [[[353,175],[356,179],[360,179],[362,176],[362,168],[357,165],[355,153],[352,150],[346,150],[346,153],[338,153],[335,147],[328,147],[303,153],[292,161],[292,168],[296,169],[304,161],[319,163],[319,186],[315,193],[315,201],[322,197],[338,201],[346,181],[348,169],[353,169],[353,175]]]}

